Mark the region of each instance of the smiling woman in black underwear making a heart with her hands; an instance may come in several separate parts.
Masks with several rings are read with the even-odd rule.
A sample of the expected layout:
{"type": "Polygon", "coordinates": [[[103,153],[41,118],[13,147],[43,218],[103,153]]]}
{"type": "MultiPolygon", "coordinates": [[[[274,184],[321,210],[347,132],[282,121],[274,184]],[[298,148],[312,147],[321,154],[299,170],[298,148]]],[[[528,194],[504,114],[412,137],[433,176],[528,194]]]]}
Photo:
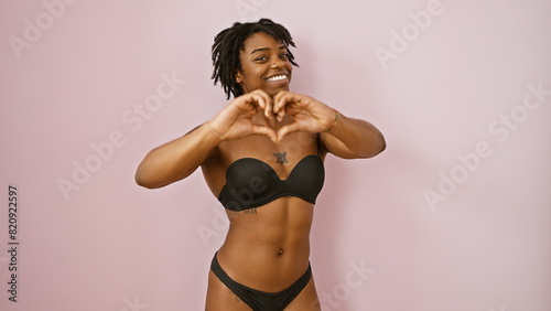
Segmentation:
{"type": "Polygon", "coordinates": [[[385,149],[369,122],[289,92],[294,47],[271,20],[235,23],[213,45],[215,84],[235,99],[212,120],[152,150],[138,184],[154,189],[198,167],[230,226],[208,276],[206,310],[321,310],[310,228],[327,152],[370,158],[385,149]]]}

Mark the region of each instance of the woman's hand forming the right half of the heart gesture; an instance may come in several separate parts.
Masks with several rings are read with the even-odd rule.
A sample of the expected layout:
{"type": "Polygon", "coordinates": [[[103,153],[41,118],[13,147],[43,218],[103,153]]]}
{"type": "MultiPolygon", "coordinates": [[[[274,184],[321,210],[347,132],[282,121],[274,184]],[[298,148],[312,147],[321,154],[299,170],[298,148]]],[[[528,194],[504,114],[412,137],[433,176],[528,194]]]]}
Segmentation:
{"type": "Polygon", "coordinates": [[[280,92],[273,103],[273,114],[279,121],[285,115],[293,118],[292,124],[278,130],[277,141],[295,131],[324,132],[335,122],[335,110],[310,96],[280,92]]]}

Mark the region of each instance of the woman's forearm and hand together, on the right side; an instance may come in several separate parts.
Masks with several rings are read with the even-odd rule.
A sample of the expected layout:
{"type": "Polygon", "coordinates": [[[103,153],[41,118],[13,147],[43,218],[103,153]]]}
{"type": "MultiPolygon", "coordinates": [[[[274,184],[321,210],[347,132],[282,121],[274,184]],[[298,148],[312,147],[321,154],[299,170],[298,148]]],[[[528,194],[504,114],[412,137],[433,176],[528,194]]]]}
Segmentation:
{"type": "Polygon", "coordinates": [[[370,158],[386,148],[385,138],[375,126],[339,112],[337,117],[335,110],[312,97],[282,92],[273,105],[278,118],[290,115],[294,119],[280,129],[278,139],[299,130],[320,132],[326,150],[345,159],[370,158]]]}

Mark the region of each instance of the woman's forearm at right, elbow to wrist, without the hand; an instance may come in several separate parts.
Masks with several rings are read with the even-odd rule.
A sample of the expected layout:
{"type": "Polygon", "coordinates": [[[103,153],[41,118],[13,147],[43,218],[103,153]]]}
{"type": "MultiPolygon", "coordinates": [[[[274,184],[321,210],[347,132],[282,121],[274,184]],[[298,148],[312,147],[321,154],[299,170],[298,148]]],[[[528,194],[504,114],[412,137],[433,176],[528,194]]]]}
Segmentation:
{"type": "Polygon", "coordinates": [[[337,122],[321,135],[329,152],[342,158],[371,158],[386,148],[382,133],[370,122],[338,112],[337,122]]]}

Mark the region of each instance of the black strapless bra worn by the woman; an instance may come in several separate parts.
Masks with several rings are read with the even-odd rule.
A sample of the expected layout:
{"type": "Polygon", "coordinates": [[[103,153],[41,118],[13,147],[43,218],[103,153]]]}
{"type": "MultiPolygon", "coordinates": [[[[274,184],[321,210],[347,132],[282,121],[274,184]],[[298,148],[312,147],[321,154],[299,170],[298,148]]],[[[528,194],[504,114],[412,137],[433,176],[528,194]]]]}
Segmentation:
{"type": "Polygon", "coordinates": [[[298,196],[315,204],[325,179],[323,161],[315,154],[302,158],[287,180],[258,159],[242,158],[226,170],[226,184],[218,201],[226,210],[242,211],[262,206],[281,196],[298,196]]]}

